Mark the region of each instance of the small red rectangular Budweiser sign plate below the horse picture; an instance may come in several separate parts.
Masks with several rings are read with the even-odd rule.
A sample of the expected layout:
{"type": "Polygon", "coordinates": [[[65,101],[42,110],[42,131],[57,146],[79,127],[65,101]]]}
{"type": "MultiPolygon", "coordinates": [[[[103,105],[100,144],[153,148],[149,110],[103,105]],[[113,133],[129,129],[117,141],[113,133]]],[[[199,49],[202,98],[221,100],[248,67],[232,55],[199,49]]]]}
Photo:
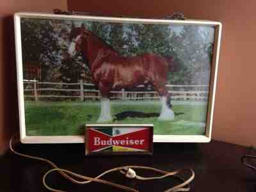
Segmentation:
{"type": "Polygon", "coordinates": [[[86,125],[87,154],[152,154],[153,125],[86,125]]]}

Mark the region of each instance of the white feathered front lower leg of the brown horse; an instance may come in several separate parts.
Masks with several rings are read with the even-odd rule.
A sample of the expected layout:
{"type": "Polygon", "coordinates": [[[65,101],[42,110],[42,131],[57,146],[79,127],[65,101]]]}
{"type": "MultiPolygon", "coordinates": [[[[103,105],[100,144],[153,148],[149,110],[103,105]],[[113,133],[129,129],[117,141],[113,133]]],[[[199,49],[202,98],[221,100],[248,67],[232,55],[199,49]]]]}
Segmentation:
{"type": "Polygon", "coordinates": [[[102,97],[101,99],[101,111],[97,120],[98,123],[109,122],[112,120],[110,102],[108,98],[102,97]]]}

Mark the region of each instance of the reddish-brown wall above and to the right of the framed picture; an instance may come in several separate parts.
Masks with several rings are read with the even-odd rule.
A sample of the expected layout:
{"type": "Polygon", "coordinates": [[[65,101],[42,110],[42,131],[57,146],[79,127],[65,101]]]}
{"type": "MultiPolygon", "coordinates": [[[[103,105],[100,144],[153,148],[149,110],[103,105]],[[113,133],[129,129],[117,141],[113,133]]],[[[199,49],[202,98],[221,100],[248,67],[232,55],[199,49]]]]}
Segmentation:
{"type": "Polygon", "coordinates": [[[159,17],[181,11],[189,19],[222,22],[213,137],[240,145],[256,145],[256,1],[68,0],[67,4],[69,10],[95,14],[159,17]]]}

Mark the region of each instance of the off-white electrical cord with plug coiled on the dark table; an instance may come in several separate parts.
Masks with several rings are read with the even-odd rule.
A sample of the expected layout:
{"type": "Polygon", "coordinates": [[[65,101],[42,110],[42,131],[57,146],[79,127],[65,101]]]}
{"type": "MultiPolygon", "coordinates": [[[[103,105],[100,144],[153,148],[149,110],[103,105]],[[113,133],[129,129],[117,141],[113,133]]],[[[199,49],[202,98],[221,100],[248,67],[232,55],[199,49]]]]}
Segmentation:
{"type": "Polygon", "coordinates": [[[126,191],[133,191],[133,192],[139,192],[139,191],[136,190],[136,189],[133,189],[133,188],[129,188],[127,186],[123,186],[123,185],[120,185],[120,184],[109,182],[108,180],[100,179],[100,177],[102,177],[103,175],[106,175],[108,173],[111,173],[111,172],[119,171],[120,173],[124,174],[125,177],[127,177],[129,179],[152,180],[152,179],[163,179],[164,177],[172,176],[172,177],[178,178],[178,179],[183,181],[181,184],[179,184],[177,186],[174,186],[173,188],[167,189],[164,192],[189,191],[190,190],[189,186],[186,187],[186,188],[185,188],[185,186],[187,186],[195,178],[195,173],[191,169],[184,169],[184,170],[189,170],[191,172],[191,176],[189,177],[189,179],[184,180],[181,177],[177,176],[177,174],[179,174],[180,172],[182,172],[184,170],[177,170],[177,171],[174,171],[174,172],[166,172],[164,170],[159,170],[159,169],[151,168],[151,167],[148,167],[148,166],[134,166],[134,165],[120,166],[120,167],[117,167],[117,168],[113,168],[111,170],[107,170],[106,172],[101,173],[100,175],[98,175],[97,177],[94,177],[94,178],[93,177],[86,177],[84,175],[79,175],[77,173],[71,172],[69,170],[64,170],[64,169],[58,168],[58,166],[56,166],[56,164],[52,163],[48,159],[44,159],[44,158],[41,158],[41,157],[35,157],[35,156],[29,156],[29,155],[26,155],[26,154],[20,154],[19,152],[15,151],[13,149],[13,145],[12,145],[13,138],[15,138],[15,136],[13,136],[12,139],[10,140],[10,150],[12,150],[12,152],[14,154],[16,154],[18,156],[22,156],[22,157],[27,157],[27,158],[30,158],[30,159],[36,159],[36,160],[39,160],[39,161],[44,161],[45,163],[48,163],[53,167],[52,170],[49,170],[47,173],[44,174],[44,177],[42,179],[44,187],[47,188],[49,191],[65,192],[65,191],[62,191],[62,190],[59,190],[59,189],[51,188],[46,184],[45,179],[46,179],[47,175],[49,175],[52,172],[60,173],[63,177],[65,177],[66,179],[70,180],[71,182],[73,182],[75,184],[88,184],[90,182],[99,182],[99,183],[102,183],[102,184],[113,186],[115,188],[124,189],[126,191]],[[134,169],[151,170],[151,171],[156,172],[156,173],[162,173],[163,175],[158,176],[158,177],[141,177],[141,176],[136,174],[134,169]],[[73,178],[70,177],[70,176],[72,176],[73,178]],[[74,179],[74,178],[83,179],[84,181],[79,181],[79,180],[74,179]]]}

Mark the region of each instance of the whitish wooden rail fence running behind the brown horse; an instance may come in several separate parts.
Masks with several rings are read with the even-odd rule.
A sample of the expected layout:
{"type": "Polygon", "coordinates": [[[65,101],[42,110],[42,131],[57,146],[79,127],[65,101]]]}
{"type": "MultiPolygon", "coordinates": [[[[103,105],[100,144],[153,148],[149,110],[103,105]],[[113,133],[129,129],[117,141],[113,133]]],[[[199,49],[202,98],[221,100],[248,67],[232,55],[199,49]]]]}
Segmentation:
{"type": "MultiPolygon", "coordinates": [[[[100,92],[95,88],[84,88],[95,86],[92,83],[52,83],[38,82],[35,80],[24,80],[24,97],[40,100],[40,98],[73,98],[84,100],[99,100],[100,92]],[[54,86],[54,87],[48,87],[54,86]],[[76,88],[70,88],[76,86],[76,88]]],[[[144,87],[140,85],[138,87],[144,87]]],[[[167,88],[172,88],[168,92],[171,94],[172,100],[207,100],[208,85],[175,85],[167,84],[167,88]],[[186,90],[185,90],[186,88],[186,90]],[[178,89],[178,90],[177,90],[178,89]],[[195,90],[197,89],[197,90],[195,90]],[[199,89],[199,90],[198,90],[199,89]],[[201,89],[201,90],[200,90],[201,89]]],[[[154,100],[159,99],[159,95],[155,91],[112,91],[111,100],[154,100]]]]}

